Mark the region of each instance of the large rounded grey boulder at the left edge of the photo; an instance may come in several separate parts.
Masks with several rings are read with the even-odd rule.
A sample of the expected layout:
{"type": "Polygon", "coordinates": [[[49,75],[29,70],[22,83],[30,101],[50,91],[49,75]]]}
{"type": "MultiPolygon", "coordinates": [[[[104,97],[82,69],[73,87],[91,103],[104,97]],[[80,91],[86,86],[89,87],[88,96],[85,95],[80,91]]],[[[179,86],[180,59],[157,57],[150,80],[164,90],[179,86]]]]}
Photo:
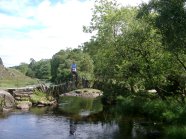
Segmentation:
{"type": "Polygon", "coordinates": [[[0,107],[11,109],[15,106],[14,97],[7,91],[0,90],[0,107]]]}

